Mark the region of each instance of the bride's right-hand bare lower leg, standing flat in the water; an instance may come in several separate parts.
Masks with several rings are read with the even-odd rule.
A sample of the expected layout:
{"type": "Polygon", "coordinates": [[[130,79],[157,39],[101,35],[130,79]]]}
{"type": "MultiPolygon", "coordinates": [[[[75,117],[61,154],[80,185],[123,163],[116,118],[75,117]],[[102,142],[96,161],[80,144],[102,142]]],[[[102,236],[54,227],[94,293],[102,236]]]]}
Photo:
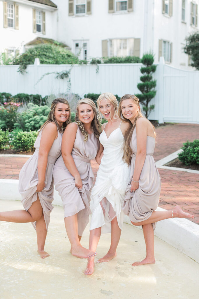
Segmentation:
{"type": "Polygon", "coordinates": [[[121,229],[118,225],[117,217],[112,219],[111,221],[111,245],[109,248],[109,251],[107,254],[104,255],[101,259],[97,261],[97,263],[104,263],[108,262],[109,260],[112,260],[114,257],[116,257],[116,249],[118,247],[118,243],[121,236],[121,229]]]}

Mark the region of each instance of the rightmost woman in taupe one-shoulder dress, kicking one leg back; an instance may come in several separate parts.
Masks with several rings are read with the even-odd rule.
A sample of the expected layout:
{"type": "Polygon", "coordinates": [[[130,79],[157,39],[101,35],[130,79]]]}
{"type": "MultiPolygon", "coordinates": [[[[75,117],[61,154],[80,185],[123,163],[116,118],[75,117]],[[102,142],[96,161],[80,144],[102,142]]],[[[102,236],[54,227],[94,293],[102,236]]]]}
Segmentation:
{"type": "Polygon", "coordinates": [[[154,126],[140,111],[139,99],[132,94],[121,97],[118,115],[130,124],[125,135],[124,161],[131,165],[131,183],[127,187],[123,210],[133,225],[142,225],[146,257],[132,266],[154,264],[154,229],[156,222],[168,218],[194,218],[179,206],[173,210],[155,211],[158,207],[161,178],[155,165],[154,126]]]}

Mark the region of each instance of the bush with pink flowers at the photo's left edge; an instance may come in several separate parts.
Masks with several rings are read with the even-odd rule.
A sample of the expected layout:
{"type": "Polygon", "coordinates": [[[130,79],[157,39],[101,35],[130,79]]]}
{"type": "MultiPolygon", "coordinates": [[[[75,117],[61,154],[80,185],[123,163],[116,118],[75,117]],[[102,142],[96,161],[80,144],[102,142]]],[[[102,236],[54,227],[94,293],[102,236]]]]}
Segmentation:
{"type": "Polygon", "coordinates": [[[12,131],[17,119],[17,109],[20,103],[5,102],[0,106],[0,129],[12,131]]]}

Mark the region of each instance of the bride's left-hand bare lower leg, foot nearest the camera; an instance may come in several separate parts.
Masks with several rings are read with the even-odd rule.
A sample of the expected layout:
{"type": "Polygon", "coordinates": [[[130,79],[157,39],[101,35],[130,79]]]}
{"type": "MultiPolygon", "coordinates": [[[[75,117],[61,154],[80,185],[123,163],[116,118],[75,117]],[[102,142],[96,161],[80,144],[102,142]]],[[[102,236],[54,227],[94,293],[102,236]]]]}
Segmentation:
{"type": "MultiPolygon", "coordinates": [[[[89,238],[90,250],[96,251],[100,236],[101,236],[101,227],[95,228],[90,231],[90,238],[89,238]]],[[[87,268],[84,271],[85,275],[91,275],[93,273],[95,267],[94,259],[95,257],[88,258],[87,268]]]]}

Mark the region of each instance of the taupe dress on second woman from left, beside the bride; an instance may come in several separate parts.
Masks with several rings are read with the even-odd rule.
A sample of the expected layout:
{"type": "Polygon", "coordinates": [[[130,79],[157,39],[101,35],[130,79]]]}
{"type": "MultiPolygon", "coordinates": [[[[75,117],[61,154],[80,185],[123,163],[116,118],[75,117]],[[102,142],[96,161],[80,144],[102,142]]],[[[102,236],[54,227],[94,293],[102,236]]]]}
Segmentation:
{"type": "Polygon", "coordinates": [[[89,222],[90,195],[94,180],[90,160],[94,159],[99,149],[99,141],[94,133],[88,135],[84,142],[81,130],[77,129],[72,158],[81,176],[83,187],[81,190],[75,186],[75,179],[66,168],[62,156],[60,156],[54,167],[53,177],[55,189],[63,201],[64,218],[78,213],[78,235],[82,236],[89,222]]]}

